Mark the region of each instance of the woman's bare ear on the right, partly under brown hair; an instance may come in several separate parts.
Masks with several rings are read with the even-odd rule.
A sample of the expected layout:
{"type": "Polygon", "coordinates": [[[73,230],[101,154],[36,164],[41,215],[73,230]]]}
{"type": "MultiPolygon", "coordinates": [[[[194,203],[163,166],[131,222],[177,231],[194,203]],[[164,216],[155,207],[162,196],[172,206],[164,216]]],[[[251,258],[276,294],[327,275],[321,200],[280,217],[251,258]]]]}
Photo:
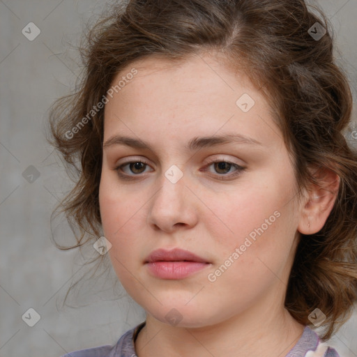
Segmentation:
{"type": "Polygon", "coordinates": [[[307,189],[298,225],[302,234],[314,234],[324,227],[340,188],[340,176],[331,169],[314,169],[313,176],[318,184],[312,183],[307,189]]]}

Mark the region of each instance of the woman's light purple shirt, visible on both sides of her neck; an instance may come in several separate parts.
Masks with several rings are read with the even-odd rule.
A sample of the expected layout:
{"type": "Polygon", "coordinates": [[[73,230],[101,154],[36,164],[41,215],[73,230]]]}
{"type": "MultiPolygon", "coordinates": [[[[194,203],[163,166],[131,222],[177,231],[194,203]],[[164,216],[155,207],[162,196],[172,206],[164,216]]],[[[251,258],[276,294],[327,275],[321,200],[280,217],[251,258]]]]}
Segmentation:
{"type": "MultiPolygon", "coordinates": [[[[81,349],[65,354],[61,357],[137,357],[135,354],[135,340],[146,321],[124,333],[115,344],[81,349]]],[[[316,351],[320,343],[319,336],[312,329],[305,326],[303,335],[285,357],[305,357],[308,351],[316,351]]],[[[324,357],[340,357],[335,349],[328,347],[324,357]]]]}

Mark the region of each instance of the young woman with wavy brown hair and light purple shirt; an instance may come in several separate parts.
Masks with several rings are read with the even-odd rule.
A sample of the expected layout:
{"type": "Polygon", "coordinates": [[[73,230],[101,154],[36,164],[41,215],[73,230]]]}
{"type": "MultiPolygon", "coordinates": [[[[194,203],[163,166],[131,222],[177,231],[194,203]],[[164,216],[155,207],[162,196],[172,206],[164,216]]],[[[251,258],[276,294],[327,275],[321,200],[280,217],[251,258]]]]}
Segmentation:
{"type": "Polygon", "coordinates": [[[111,12],[52,143],[81,165],[76,246],[103,232],[146,320],[66,356],[339,356],[321,341],[357,296],[357,155],[326,18],[303,0],[111,12]]]}

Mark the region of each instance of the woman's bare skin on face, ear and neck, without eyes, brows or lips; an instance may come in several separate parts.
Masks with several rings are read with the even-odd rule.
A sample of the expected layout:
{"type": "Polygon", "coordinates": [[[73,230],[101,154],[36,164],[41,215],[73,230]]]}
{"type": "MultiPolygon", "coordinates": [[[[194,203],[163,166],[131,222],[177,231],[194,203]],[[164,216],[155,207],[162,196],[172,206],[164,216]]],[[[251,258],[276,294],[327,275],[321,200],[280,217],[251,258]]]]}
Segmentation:
{"type": "MultiPolygon", "coordinates": [[[[192,56],[179,64],[144,59],[114,82],[133,67],[137,75],[105,105],[104,142],[126,135],[149,142],[153,151],[105,146],[99,199],[116,275],[146,310],[137,356],[285,356],[304,328],[284,309],[298,232],[323,227],[335,194],[312,187],[297,201],[294,169],[268,103],[217,57],[192,56]],[[248,112],[236,105],[243,93],[255,100],[248,112]],[[193,137],[227,133],[261,145],[184,147],[193,137]],[[116,169],[130,160],[148,165],[116,169]],[[245,169],[220,168],[213,160],[245,169]],[[183,173],[176,183],[165,176],[172,165],[183,173]],[[131,176],[124,180],[118,172],[131,176]],[[274,212],[279,217],[271,222],[274,212]],[[264,233],[208,280],[266,220],[271,224],[264,233]],[[181,280],[151,275],[145,258],[176,247],[211,265],[181,280]],[[179,324],[165,318],[173,308],[179,324]]],[[[335,176],[324,177],[336,187],[335,176]]]]}

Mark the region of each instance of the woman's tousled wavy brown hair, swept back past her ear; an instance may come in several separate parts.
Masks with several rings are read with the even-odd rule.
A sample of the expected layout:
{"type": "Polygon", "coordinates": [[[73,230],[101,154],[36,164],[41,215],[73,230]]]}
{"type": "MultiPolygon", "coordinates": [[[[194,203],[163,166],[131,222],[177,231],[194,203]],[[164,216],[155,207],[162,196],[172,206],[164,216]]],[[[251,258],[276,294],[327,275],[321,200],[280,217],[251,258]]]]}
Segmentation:
{"type": "Polygon", "coordinates": [[[59,248],[76,248],[99,236],[104,109],[92,112],[70,138],[68,130],[135,60],[217,52],[232,67],[244,68],[269,100],[294,158],[298,187],[319,183],[308,170],[312,166],[340,177],[324,227],[301,234],[285,299],[301,324],[312,326],[308,315],[315,307],[324,312],[321,338],[330,338],[357,300],[357,153],[342,134],[351,121],[349,83],[333,59],[331,25],[319,8],[314,10],[319,17],[303,0],[133,0],[112,6],[87,34],[79,89],[57,100],[50,113],[50,142],[78,174],[61,206],[80,234],[76,245],[59,248]],[[327,30],[319,40],[309,33],[316,22],[327,30]]]}

